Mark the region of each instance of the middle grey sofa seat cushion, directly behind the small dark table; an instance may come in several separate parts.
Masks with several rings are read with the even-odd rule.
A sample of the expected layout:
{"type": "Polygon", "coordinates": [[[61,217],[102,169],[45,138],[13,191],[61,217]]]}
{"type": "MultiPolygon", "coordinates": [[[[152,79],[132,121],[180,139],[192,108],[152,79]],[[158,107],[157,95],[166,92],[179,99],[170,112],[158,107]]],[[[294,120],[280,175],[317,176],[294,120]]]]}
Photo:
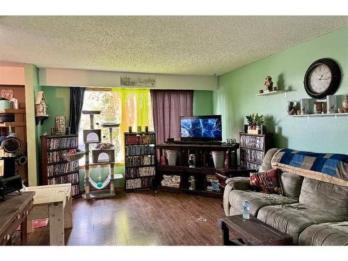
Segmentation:
{"type": "Polygon", "coordinates": [[[258,212],[258,219],[291,235],[294,244],[298,244],[300,233],[308,226],[345,221],[342,216],[300,203],[262,207],[258,212]]]}

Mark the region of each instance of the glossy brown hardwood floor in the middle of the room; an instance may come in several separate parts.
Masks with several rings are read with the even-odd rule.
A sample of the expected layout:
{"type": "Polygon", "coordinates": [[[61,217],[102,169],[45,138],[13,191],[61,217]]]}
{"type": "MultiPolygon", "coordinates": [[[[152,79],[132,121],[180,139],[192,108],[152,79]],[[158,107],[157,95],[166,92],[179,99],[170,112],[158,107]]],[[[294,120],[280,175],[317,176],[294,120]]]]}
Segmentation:
{"type": "MultiPolygon", "coordinates": [[[[221,245],[224,216],[218,198],[159,191],[116,192],[116,198],[73,200],[73,228],[65,244],[221,245]]],[[[28,235],[29,245],[49,245],[48,228],[28,235]]]]}

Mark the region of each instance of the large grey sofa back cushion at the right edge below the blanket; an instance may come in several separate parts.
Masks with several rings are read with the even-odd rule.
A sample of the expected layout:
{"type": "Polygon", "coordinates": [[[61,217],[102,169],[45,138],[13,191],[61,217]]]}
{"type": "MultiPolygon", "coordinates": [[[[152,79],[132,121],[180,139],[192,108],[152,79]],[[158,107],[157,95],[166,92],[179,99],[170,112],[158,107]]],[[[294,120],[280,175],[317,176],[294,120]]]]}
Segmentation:
{"type": "Polygon", "coordinates": [[[348,187],[305,177],[299,203],[337,214],[348,220],[348,187]]]}

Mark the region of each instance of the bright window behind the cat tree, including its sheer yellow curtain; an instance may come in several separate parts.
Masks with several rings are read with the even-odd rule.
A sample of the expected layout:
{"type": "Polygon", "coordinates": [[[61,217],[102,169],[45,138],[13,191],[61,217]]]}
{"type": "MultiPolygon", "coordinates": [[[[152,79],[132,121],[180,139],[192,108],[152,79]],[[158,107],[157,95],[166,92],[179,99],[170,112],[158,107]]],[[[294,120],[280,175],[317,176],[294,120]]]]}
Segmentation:
{"type": "MultiPolygon", "coordinates": [[[[102,129],[102,142],[109,142],[109,128],[101,127],[103,122],[120,122],[119,128],[113,128],[112,143],[116,150],[116,162],[124,161],[124,132],[132,126],[136,132],[137,126],[145,125],[153,132],[152,104],[150,90],[146,89],[87,89],[84,95],[84,106],[82,110],[101,111],[94,116],[95,129],[102,129]]],[[[79,148],[85,150],[83,129],[90,129],[90,116],[81,114],[79,125],[79,148]]],[[[90,145],[90,149],[95,144],[90,145]]],[[[92,162],[90,153],[90,162],[92,162]]],[[[106,160],[107,156],[100,155],[100,159],[106,160]]],[[[84,165],[85,159],[81,159],[80,166],[84,165]]]]}

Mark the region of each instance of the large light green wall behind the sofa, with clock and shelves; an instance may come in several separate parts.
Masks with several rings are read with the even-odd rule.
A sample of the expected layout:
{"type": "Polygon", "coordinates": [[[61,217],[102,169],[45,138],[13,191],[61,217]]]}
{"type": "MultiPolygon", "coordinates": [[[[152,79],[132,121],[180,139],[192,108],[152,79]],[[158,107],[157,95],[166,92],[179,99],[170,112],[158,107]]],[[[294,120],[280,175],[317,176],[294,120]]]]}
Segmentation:
{"type": "Polygon", "coordinates": [[[345,27],[219,77],[219,89],[213,92],[213,111],[222,115],[223,139],[239,140],[245,116],[258,112],[267,116],[267,127],[269,132],[274,132],[274,145],[278,148],[348,154],[348,116],[296,118],[287,116],[286,112],[287,101],[309,97],[303,77],[308,66],[319,58],[338,62],[342,82],[335,94],[340,95],[340,101],[348,94],[347,40],[348,27],[345,27]],[[255,96],[259,89],[264,89],[267,75],[273,77],[274,86],[291,89],[287,97],[284,94],[255,96]]]}

